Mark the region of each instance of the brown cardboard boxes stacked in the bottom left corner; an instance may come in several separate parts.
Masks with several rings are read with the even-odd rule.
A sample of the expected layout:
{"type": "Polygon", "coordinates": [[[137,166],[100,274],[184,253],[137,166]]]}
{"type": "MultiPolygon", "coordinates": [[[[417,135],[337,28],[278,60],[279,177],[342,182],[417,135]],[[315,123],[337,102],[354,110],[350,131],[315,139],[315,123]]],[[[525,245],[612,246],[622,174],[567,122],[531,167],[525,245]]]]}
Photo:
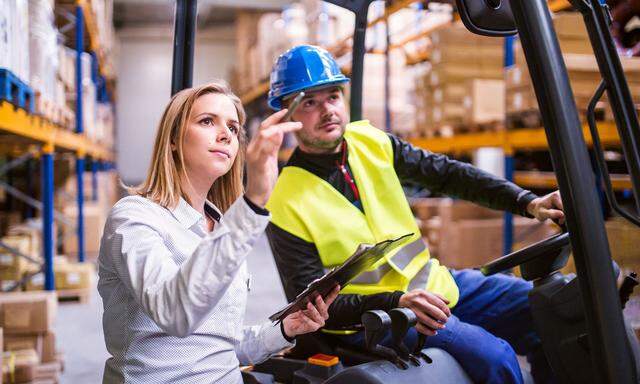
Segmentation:
{"type": "Polygon", "coordinates": [[[0,294],[3,381],[58,381],[61,365],[53,333],[56,311],[54,292],[0,294]]]}

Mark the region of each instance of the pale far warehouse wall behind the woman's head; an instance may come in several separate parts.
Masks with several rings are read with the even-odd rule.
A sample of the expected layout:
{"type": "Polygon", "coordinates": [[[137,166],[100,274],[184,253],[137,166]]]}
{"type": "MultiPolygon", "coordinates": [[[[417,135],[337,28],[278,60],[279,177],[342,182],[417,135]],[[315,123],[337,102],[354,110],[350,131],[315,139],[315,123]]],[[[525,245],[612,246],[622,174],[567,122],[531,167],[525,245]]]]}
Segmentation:
{"type": "MultiPolygon", "coordinates": [[[[235,60],[233,28],[196,32],[193,84],[226,79],[235,60]]],[[[141,182],[171,93],[172,28],[126,28],[118,36],[116,151],[122,180],[141,182]]]]}

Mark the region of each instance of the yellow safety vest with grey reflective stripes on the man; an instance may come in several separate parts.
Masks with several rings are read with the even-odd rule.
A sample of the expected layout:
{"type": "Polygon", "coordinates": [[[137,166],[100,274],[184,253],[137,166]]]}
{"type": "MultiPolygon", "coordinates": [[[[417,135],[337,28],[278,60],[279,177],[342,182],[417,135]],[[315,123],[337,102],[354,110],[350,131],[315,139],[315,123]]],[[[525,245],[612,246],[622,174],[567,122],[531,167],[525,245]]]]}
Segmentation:
{"type": "Polygon", "coordinates": [[[299,167],[282,170],[267,203],[272,222],[318,249],[322,265],[342,264],[361,243],[413,233],[408,245],[362,273],[341,294],[370,295],[420,288],[446,297],[458,287],[449,270],[431,259],[393,167],[389,137],[368,121],[347,125],[348,161],[364,213],[325,180],[299,167]]]}

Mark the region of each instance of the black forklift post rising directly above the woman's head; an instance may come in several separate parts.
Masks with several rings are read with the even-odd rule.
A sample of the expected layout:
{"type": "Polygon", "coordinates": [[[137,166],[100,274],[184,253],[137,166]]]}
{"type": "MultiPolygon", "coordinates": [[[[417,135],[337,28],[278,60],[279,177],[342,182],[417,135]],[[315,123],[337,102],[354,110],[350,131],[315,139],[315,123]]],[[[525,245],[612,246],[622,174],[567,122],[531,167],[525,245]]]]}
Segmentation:
{"type": "Polygon", "coordinates": [[[196,35],[197,0],[176,1],[173,35],[173,74],[171,94],[175,95],[193,83],[193,48],[196,35]]]}

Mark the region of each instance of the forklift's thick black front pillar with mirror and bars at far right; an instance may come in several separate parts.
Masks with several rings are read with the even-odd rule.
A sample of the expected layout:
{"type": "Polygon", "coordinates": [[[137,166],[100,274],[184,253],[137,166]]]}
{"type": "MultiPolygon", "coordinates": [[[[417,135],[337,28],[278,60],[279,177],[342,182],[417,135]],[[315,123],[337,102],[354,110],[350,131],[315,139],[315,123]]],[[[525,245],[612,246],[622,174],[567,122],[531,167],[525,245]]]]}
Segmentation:
{"type": "MultiPolygon", "coordinates": [[[[606,5],[570,0],[584,17],[611,101],[636,207],[640,202],[638,118],[608,28],[606,5]]],[[[567,69],[545,0],[457,0],[465,26],[487,36],[519,34],[562,194],[585,308],[594,382],[637,382],[626,337],[604,218],[567,69]]],[[[599,90],[602,94],[603,89],[599,90]]],[[[597,130],[595,131],[597,134],[597,130]]],[[[594,141],[596,137],[594,137],[594,141]]],[[[637,218],[636,213],[629,216],[637,218]]],[[[634,220],[632,220],[634,221],[634,220]]],[[[637,222],[635,220],[634,222],[637,222]]]]}

